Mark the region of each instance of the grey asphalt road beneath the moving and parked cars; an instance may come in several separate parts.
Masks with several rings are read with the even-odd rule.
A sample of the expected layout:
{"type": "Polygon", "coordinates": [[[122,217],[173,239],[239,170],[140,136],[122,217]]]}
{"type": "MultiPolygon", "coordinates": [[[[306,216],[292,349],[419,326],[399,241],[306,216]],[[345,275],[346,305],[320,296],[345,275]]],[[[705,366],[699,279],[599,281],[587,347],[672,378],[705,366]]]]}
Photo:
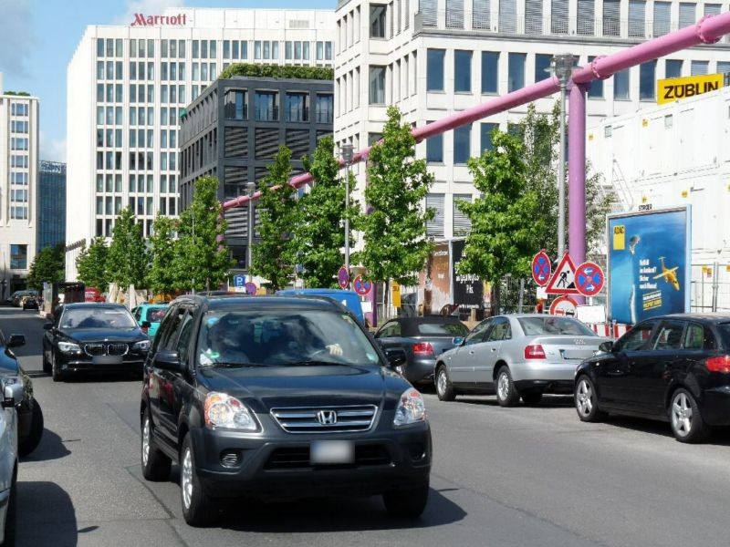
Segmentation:
{"type": "Polygon", "coordinates": [[[665,424],[579,422],[569,397],[499,408],[495,397],[453,403],[427,395],[434,465],[427,510],[391,520],[377,498],[234,503],[214,528],[185,524],[178,471],[141,478],[130,378],[54,384],[41,371],[43,321],[0,308],[5,335],[34,377],[46,430],[20,464],[18,544],[52,545],[723,545],[730,542],[730,434],[702,446],[665,424]]]}

